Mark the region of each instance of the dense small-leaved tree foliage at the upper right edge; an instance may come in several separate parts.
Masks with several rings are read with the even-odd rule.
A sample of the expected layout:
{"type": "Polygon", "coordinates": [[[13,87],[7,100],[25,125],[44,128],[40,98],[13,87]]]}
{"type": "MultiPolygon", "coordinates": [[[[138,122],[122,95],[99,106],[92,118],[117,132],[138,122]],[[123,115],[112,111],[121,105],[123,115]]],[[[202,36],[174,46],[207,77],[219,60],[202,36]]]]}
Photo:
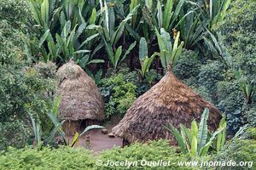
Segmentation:
{"type": "Polygon", "coordinates": [[[216,28],[223,35],[222,42],[230,54],[225,58],[230,69],[238,73],[236,79],[247,103],[252,102],[256,78],[256,30],[253,8],[256,8],[255,1],[232,2],[226,20],[216,28]]]}

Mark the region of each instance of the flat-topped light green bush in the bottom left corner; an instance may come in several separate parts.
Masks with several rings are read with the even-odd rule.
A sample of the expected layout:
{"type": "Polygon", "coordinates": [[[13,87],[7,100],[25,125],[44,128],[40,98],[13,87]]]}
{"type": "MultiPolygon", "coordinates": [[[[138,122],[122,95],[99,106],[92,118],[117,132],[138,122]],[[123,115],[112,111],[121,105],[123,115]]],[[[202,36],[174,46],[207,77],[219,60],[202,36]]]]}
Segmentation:
{"type": "Polygon", "coordinates": [[[0,155],[1,169],[96,169],[89,150],[9,148],[0,155]]]}

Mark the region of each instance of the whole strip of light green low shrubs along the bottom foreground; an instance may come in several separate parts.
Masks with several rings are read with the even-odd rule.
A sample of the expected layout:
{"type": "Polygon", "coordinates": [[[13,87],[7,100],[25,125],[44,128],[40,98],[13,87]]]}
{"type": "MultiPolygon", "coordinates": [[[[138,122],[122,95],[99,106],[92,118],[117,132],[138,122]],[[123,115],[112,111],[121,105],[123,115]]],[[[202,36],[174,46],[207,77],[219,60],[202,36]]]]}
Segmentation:
{"type": "MultiPolygon", "coordinates": [[[[105,166],[109,161],[137,161],[137,166],[129,169],[191,169],[192,167],[178,166],[178,161],[189,161],[187,155],[176,153],[167,141],[151,141],[149,144],[131,144],[125,148],[105,150],[100,155],[92,156],[89,150],[61,147],[58,149],[31,148],[14,149],[0,153],[1,169],[126,169],[122,166],[105,166]],[[141,166],[140,162],[169,161],[166,166],[141,166]],[[99,163],[102,163],[100,165],[99,163]]],[[[193,168],[192,168],[193,169],[193,168]]],[[[196,168],[195,168],[196,169],[196,168]]]]}

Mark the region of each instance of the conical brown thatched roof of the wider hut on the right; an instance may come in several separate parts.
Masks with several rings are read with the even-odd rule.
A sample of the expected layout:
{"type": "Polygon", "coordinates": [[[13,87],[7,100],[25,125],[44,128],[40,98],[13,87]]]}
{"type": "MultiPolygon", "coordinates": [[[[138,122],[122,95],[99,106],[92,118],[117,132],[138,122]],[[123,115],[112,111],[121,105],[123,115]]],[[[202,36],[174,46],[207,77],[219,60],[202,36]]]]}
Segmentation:
{"type": "Polygon", "coordinates": [[[218,109],[179,82],[171,71],[131,105],[124,118],[113,127],[113,133],[128,142],[146,142],[148,139],[174,138],[165,127],[183,123],[190,127],[194,119],[200,122],[201,113],[209,108],[208,127],[218,127],[221,118],[218,109]]]}

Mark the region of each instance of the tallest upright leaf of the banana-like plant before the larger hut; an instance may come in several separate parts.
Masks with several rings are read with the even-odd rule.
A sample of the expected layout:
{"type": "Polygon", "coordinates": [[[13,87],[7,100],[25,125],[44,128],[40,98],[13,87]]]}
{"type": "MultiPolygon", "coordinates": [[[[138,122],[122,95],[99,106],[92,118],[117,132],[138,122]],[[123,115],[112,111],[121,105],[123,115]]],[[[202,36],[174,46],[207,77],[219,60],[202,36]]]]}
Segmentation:
{"type": "Polygon", "coordinates": [[[208,116],[209,116],[209,109],[206,108],[201,115],[201,122],[199,124],[199,129],[198,129],[198,134],[197,134],[198,150],[201,150],[201,148],[207,143],[208,116]]]}

